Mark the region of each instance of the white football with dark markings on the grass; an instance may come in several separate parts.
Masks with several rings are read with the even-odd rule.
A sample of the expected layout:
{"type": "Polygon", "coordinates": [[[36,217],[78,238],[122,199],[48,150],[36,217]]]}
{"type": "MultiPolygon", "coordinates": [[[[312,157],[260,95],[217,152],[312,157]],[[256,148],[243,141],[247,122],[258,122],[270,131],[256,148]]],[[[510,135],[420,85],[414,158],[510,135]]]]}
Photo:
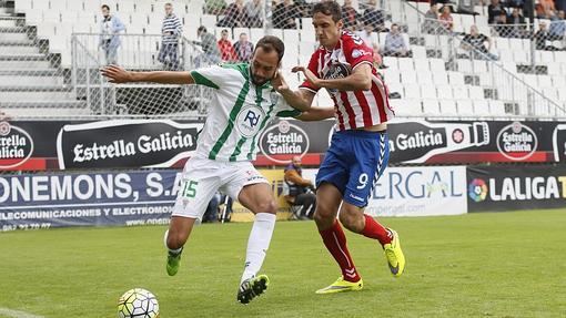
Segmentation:
{"type": "Polygon", "coordinates": [[[119,318],[159,318],[158,298],[151,291],[134,288],[118,299],[119,318]]]}

